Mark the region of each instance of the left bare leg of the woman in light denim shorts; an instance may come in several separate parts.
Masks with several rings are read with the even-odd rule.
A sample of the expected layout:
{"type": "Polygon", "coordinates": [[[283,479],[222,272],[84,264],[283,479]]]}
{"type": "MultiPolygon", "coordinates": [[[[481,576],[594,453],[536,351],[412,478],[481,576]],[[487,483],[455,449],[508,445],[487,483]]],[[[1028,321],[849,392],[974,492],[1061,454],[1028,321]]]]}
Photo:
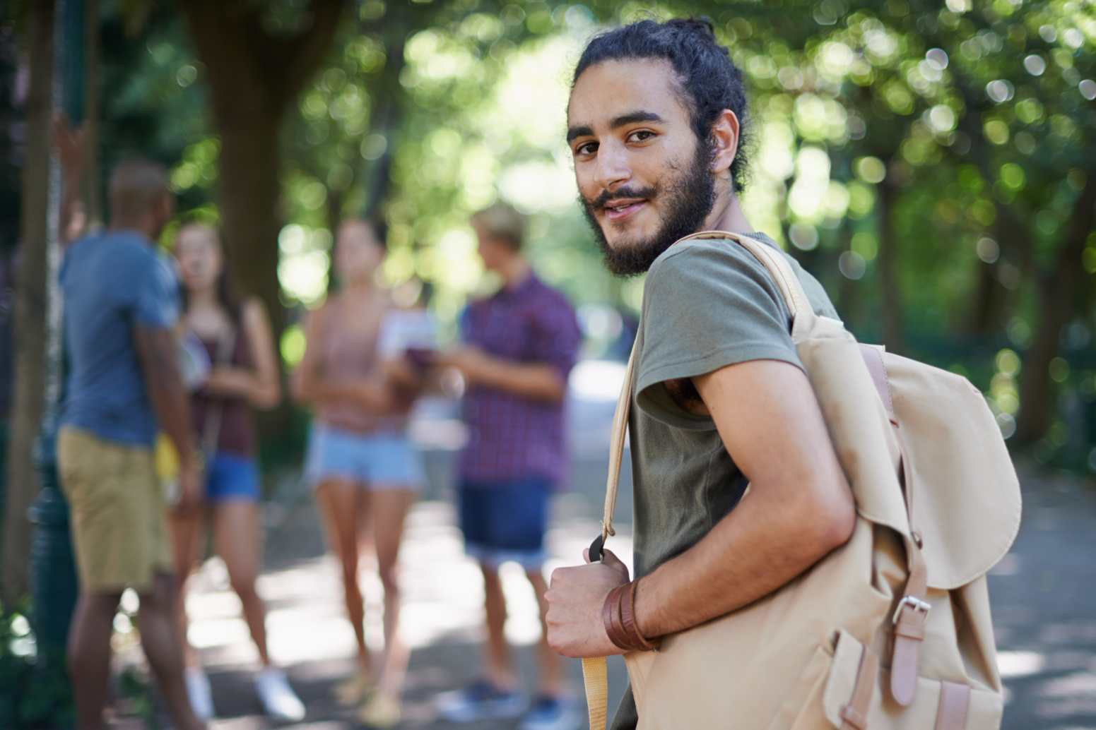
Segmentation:
{"type": "Polygon", "coordinates": [[[358,514],[366,494],[358,485],[345,479],[328,479],[316,489],[323,511],[328,546],[342,566],[343,594],[346,614],[357,639],[357,660],[363,676],[372,675],[369,649],[365,646],[365,605],[357,580],[358,514]]]}

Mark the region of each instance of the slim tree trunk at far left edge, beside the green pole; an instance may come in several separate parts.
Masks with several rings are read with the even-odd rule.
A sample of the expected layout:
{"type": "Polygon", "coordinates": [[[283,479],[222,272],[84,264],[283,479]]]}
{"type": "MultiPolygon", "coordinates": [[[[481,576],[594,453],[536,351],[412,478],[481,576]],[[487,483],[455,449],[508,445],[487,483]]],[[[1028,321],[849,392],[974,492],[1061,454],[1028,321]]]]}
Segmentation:
{"type": "Polygon", "coordinates": [[[38,477],[32,454],[45,406],[49,291],[49,121],[53,116],[54,0],[33,0],[26,12],[31,78],[24,107],[26,150],[20,211],[22,260],[12,311],[15,362],[3,514],[3,575],[0,584],[2,599],[8,604],[27,590],[31,524],[26,519],[26,510],[38,493],[38,477]]]}

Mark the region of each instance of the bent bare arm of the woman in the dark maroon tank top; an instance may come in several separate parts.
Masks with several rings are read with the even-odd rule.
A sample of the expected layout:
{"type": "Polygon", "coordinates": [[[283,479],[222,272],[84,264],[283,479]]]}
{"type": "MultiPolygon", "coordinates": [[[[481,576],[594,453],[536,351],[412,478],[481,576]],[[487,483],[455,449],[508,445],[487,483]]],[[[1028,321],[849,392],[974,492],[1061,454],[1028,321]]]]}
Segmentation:
{"type": "Polygon", "coordinates": [[[241,396],[255,408],[273,408],[282,401],[282,382],[274,334],[262,301],[249,299],[243,303],[240,325],[252,366],[215,367],[206,390],[217,395],[241,396]]]}

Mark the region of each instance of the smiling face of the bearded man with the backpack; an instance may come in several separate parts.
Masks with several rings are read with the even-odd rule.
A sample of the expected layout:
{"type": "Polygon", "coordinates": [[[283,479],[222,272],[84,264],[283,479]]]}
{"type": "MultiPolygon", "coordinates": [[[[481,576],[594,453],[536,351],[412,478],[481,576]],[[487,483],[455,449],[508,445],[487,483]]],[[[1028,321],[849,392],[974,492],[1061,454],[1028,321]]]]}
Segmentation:
{"type": "Polygon", "coordinates": [[[701,230],[715,204],[711,150],[698,140],[664,60],[586,69],[568,106],[579,195],[605,263],[646,271],[677,239],[701,230]]]}

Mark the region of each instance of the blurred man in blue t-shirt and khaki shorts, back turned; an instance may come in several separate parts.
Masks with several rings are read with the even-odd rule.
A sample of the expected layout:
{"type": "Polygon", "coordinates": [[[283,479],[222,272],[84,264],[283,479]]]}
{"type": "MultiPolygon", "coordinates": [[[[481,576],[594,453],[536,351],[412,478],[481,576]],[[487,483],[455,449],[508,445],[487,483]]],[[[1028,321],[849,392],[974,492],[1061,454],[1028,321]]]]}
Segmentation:
{"type": "MultiPolygon", "coordinates": [[[[78,179],[67,171],[68,182],[78,179]]],[[[110,185],[110,225],[73,243],[60,270],[70,362],[57,439],[72,515],[80,600],[69,636],[77,727],[100,730],[111,634],[122,592],[140,596],[141,645],[180,730],[199,730],[172,616],[168,506],[152,461],[158,428],[179,451],[180,499],[201,505],[190,410],[175,359],[174,274],[152,240],[174,211],[162,165],[123,160],[110,185]]]]}

